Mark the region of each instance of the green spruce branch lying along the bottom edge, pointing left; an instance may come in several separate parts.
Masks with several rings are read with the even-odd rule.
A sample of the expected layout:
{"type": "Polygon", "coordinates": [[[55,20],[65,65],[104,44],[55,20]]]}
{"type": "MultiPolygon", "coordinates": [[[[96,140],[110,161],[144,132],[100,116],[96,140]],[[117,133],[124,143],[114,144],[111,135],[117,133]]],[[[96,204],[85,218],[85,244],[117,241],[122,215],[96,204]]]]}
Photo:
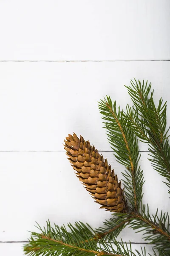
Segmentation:
{"type": "MultiPolygon", "coordinates": [[[[115,239],[105,243],[104,240],[95,239],[95,234],[88,224],[76,222],[75,226],[68,224],[69,231],[65,226],[59,227],[54,224],[51,227],[47,221],[47,227],[41,228],[40,233],[31,233],[29,243],[24,246],[24,252],[28,256],[145,256],[145,253],[133,253],[123,242],[115,239]]],[[[145,249],[144,249],[145,252],[145,249]]]]}

